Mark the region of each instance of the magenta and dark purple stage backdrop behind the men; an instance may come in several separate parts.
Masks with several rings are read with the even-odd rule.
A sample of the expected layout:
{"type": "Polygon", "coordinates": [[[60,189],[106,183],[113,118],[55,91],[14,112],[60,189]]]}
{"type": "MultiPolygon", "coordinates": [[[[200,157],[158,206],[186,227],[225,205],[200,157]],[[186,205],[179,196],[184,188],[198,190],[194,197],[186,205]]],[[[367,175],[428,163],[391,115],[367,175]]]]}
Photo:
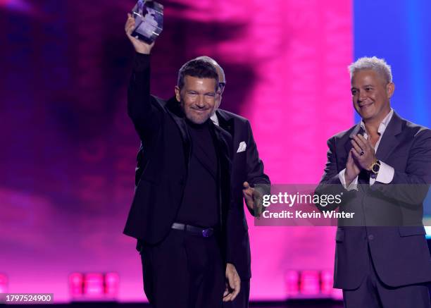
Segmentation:
{"type": "MultiPolygon", "coordinates": [[[[317,183],[326,140],[353,123],[344,0],[171,0],[152,90],[206,54],[225,68],[223,108],[251,121],[273,183],[317,183]]],[[[70,300],[72,272],[113,271],[143,300],[135,240],[122,235],[139,140],[126,115],[133,1],[0,1],[0,273],[9,292],[70,300]]],[[[284,300],[290,269],[332,270],[334,230],[254,227],[252,300],[284,300]]]]}

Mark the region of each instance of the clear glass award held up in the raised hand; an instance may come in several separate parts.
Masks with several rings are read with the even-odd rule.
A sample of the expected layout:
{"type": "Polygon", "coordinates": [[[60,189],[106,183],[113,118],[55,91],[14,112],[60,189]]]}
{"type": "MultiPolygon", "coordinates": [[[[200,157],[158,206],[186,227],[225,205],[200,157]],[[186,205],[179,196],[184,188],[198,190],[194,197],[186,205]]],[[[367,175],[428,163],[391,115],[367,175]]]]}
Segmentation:
{"type": "Polygon", "coordinates": [[[132,9],[132,16],[135,18],[132,37],[147,44],[154,42],[163,30],[163,6],[156,1],[139,0],[132,9]]]}

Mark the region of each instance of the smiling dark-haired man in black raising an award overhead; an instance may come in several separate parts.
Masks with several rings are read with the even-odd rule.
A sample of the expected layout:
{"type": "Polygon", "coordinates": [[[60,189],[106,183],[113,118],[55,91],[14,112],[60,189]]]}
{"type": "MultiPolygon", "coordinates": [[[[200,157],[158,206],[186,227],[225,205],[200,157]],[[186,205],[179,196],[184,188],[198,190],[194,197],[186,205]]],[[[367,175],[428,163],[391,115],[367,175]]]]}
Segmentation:
{"type": "Polygon", "coordinates": [[[218,75],[205,61],[189,61],[173,99],[151,96],[154,44],[132,37],[134,27],[129,14],[125,31],[136,54],[127,113],[145,155],[124,233],[138,240],[144,290],[154,307],[220,308],[222,300],[235,300],[240,281],[229,226],[238,217],[231,214],[232,140],[209,120],[218,75]]]}

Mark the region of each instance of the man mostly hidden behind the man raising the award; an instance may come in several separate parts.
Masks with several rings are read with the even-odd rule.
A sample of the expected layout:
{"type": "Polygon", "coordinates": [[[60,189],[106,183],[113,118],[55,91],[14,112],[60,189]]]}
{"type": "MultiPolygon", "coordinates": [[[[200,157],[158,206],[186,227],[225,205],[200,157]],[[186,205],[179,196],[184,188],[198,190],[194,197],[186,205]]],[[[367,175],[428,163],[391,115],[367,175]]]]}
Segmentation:
{"type": "Polygon", "coordinates": [[[246,118],[235,113],[218,109],[225,90],[226,80],[223,68],[208,56],[200,56],[196,59],[207,61],[215,67],[218,73],[219,89],[216,98],[216,109],[211,120],[215,125],[227,130],[232,135],[233,159],[232,159],[232,181],[231,189],[237,211],[242,223],[231,223],[230,235],[234,251],[232,252],[232,262],[241,277],[241,291],[232,302],[224,302],[225,308],[246,308],[249,307],[250,278],[251,278],[251,257],[249,232],[244,213],[243,197],[246,201],[247,209],[254,216],[260,216],[262,195],[270,194],[270,180],[263,171],[263,162],[259,159],[256,142],[254,142],[251,125],[246,118]]]}

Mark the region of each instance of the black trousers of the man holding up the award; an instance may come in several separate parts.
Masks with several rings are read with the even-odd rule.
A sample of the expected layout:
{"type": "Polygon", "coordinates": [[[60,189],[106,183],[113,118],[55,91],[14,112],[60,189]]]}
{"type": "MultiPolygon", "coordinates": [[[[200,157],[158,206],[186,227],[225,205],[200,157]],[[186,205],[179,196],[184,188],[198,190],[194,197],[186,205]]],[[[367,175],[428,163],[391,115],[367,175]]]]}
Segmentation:
{"type": "Polygon", "coordinates": [[[225,266],[215,236],[170,230],[142,245],[144,292],[154,308],[222,308],[225,266]]]}

